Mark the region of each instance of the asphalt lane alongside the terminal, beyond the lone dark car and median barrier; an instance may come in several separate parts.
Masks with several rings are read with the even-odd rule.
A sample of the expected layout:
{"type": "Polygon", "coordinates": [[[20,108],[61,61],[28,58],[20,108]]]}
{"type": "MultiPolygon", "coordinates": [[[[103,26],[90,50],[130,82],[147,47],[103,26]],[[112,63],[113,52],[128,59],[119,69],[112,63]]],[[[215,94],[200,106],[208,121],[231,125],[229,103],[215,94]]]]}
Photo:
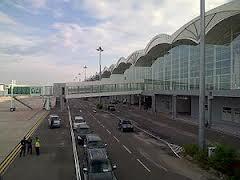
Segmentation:
{"type": "MultiPolygon", "coordinates": [[[[86,101],[85,104],[91,107],[96,106],[96,102],[93,100],[86,101]]],[[[117,110],[112,112],[113,114],[134,120],[139,127],[147,129],[170,143],[184,145],[197,143],[198,141],[198,126],[196,125],[172,120],[160,113],[145,112],[121,103],[116,105],[116,107],[117,110]]],[[[223,143],[237,149],[240,148],[240,138],[217,132],[213,129],[206,129],[206,138],[210,144],[223,143]]]]}

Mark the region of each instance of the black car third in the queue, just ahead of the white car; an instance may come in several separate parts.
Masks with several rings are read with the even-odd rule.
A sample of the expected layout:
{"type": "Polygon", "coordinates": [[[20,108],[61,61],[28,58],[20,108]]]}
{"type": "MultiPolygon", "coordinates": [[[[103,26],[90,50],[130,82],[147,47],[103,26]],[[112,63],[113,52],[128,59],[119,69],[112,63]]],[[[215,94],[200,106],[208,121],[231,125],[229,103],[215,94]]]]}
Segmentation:
{"type": "Polygon", "coordinates": [[[86,135],[92,132],[87,124],[80,124],[77,129],[74,129],[77,143],[83,145],[86,135]]]}

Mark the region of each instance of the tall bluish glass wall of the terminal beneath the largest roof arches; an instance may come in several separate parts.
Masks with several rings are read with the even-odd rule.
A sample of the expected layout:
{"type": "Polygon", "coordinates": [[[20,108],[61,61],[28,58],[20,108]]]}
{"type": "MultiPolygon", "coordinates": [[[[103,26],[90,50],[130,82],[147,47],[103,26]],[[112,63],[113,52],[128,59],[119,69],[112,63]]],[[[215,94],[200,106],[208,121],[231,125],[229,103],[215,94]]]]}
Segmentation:
{"type": "MultiPolygon", "coordinates": [[[[240,89],[239,33],[235,37],[224,45],[206,45],[205,80],[208,90],[240,89]]],[[[199,70],[199,45],[173,47],[152,65],[154,89],[198,90],[199,70]]]]}

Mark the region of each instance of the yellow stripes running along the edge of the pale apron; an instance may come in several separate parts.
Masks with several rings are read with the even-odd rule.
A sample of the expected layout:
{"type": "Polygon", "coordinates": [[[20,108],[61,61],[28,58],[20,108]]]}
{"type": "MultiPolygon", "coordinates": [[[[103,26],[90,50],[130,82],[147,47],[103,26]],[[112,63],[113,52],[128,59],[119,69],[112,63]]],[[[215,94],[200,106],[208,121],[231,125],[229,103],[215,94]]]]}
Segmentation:
{"type": "MultiPolygon", "coordinates": [[[[41,122],[47,117],[49,112],[44,113],[41,117],[38,118],[37,122],[33,125],[33,127],[28,131],[28,133],[25,135],[26,139],[28,139],[38,128],[38,126],[41,124],[41,122]]],[[[0,164],[0,175],[3,175],[7,168],[10,166],[10,164],[14,161],[17,154],[19,153],[21,149],[20,143],[18,143],[15,148],[8,154],[8,156],[1,162],[0,164]]]]}

